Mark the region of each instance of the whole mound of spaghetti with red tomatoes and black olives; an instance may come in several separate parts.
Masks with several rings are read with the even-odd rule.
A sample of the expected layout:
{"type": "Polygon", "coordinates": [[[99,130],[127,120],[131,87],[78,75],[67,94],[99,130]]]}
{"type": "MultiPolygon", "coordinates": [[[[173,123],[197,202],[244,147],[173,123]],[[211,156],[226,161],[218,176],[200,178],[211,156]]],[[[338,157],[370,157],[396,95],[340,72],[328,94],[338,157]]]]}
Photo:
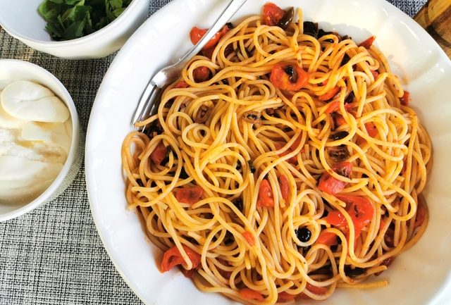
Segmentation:
{"type": "Polygon", "coordinates": [[[245,304],[387,285],[364,280],[428,220],[431,142],[374,37],[290,14],[266,4],[223,29],[123,142],[161,270],[245,304]]]}

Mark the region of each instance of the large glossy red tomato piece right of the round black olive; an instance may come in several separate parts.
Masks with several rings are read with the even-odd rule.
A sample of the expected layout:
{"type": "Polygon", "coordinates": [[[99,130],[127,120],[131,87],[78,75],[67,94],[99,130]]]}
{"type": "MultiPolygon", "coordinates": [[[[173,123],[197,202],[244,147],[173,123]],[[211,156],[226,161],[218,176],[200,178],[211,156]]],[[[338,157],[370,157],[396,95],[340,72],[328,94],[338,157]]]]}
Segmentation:
{"type": "Polygon", "coordinates": [[[346,204],[346,211],[350,214],[356,230],[361,230],[373,219],[374,208],[371,201],[362,196],[337,195],[346,204]]]}

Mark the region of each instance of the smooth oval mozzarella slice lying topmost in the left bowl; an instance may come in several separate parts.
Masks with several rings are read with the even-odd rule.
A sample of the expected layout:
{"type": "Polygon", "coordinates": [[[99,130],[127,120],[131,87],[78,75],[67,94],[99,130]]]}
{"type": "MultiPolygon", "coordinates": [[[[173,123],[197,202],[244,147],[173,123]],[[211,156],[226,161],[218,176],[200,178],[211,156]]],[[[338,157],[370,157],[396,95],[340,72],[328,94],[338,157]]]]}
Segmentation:
{"type": "Polygon", "coordinates": [[[70,116],[66,105],[53,92],[27,80],[6,86],[0,99],[6,113],[20,120],[63,123],[70,116]]]}

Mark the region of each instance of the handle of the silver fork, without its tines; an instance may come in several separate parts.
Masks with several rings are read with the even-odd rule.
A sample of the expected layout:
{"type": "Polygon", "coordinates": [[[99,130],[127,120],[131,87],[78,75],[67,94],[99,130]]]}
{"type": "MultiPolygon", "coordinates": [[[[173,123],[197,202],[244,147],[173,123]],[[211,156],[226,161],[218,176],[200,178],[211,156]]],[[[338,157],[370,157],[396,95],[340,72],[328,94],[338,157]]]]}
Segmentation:
{"type": "Polygon", "coordinates": [[[180,70],[186,66],[186,64],[194,57],[202,48],[205,46],[207,42],[211,38],[216,35],[216,33],[221,30],[221,28],[232,18],[233,15],[240,9],[240,7],[245,4],[247,0],[231,0],[224,11],[219,15],[218,19],[214,22],[214,24],[210,27],[210,29],[205,33],[202,39],[195,44],[190,51],[187,52],[177,63],[174,63],[171,66],[167,66],[163,68],[161,71],[163,73],[159,75],[155,75],[153,81],[159,87],[163,87],[167,83],[167,80],[174,81],[177,77],[180,76],[180,70]],[[176,72],[176,73],[175,73],[176,72]]]}

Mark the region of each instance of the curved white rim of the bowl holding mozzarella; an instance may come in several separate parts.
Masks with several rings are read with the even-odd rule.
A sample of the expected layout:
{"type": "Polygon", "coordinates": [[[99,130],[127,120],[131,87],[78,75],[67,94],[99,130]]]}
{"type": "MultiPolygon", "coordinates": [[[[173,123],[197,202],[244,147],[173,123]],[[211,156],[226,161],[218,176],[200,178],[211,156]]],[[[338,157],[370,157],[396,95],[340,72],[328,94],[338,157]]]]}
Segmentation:
{"type": "Polygon", "coordinates": [[[72,97],[70,97],[70,94],[68,92],[68,89],[66,89],[66,86],[63,85],[63,83],[58,80],[58,78],[51,74],[48,70],[42,68],[41,66],[36,65],[35,63],[30,63],[28,61],[20,61],[18,59],[0,59],[1,63],[13,63],[17,65],[22,65],[25,67],[30,67],[30,69],[36,69],[41,70],[44,75],[47,75],[51,78],[53,82],[58,87],[61,87],[61,90],[64,94],[64,99],[66,106],[69,109],[70,112],[70,118],[72,119],[72,139],[70,142],[70,150],[68,153],[68,157],[66,158],[66,162],[64,163],[63,169],[61,169],[61,172],[56,176],[55,180],[51,182],[51,185],[47,187],[47,189],[42,192],[36,199],[32,200],[30,203],[25,204],[25,206],[18,208],[14,211],[0,214],[0,222],[5,220],[10,220],[12,218],[16,218],[18,216],[22,216],[25,213],[28,213],[38,206],[44,204],[44,202],[51,197],[51,194],[53,194],[56,189],[63,183],[64,179],[66,178],[66,175],[68,175],[70,168],[72,167],[74,161],[75,161],[75,155],[78,150],[79,145],[79,138],[80,138],[80,132],[79,132],[79,122],[78,122],[78,113],[77,108],[75,107],[75,104],[73,102],[72,97]]]}

